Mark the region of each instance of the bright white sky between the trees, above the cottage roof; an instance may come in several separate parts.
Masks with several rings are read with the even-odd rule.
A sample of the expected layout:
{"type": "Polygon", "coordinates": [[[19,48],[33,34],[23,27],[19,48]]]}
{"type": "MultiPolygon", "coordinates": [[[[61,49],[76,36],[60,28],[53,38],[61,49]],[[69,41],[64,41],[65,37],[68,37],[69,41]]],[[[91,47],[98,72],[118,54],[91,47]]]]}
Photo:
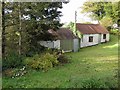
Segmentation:
{"type": "Polygon", "coordinates": [[[92,22],[97,23],[96,21],[92,21],[86,14],[80,13],[82,10],[80,7],[86,0],[70,0],[69,3],[63,4],[63,8],[61,9],[63,16],[60,18],[61,23],[69,23],[75,21],[75,11],[77,11],[77,23],[83,22],[92,22]]]}

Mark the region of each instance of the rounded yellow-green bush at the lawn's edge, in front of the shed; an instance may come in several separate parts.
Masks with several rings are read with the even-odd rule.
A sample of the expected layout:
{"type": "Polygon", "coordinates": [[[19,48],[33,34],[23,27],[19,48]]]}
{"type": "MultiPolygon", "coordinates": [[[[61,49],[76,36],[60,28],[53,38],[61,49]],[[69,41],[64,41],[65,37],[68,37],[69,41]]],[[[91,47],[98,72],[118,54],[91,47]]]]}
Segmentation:
{"type": "Polygon", "coordinates": [[[57,57],[50,53],[41,55],[34,55],[33,57],[26,58],[24,62],[28,67],[37,70],[48,70],[58,64],[57,57]]]}

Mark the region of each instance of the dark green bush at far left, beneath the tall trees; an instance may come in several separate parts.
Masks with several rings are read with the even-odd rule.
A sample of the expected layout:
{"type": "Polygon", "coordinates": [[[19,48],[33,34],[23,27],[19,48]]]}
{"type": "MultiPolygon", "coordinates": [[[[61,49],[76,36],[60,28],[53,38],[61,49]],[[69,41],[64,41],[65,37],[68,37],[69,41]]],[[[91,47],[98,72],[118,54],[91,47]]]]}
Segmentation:
{"type": "Polygon", "coordinates": [[[23,56],[19,56],[17,53],[9,53],[4,60],[2,60],[2,69],[16,68],[23,66],[23,56]]]}

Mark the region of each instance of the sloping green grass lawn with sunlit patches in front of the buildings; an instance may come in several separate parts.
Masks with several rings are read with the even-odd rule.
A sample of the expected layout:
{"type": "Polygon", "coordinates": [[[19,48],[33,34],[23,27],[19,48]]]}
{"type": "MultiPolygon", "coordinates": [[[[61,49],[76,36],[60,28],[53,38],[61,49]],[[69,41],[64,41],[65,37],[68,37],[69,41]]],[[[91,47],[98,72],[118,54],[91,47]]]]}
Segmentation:
{"type": "Polygon", "coordinates": [[[3,77],[3,88],[117,87],[118,37],[108,43],[66,53],[71,63],[47,72],[29,71],[17,78],[3,77]]]}

